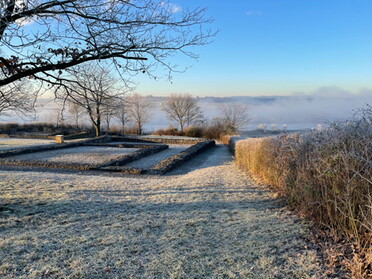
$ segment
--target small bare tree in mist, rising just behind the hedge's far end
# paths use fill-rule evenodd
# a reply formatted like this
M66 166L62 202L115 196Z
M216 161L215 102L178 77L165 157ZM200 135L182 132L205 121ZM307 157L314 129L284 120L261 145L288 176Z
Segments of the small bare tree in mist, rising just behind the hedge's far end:
M235 134L249 122L248 106L240 103L228 103L220 106L221 120L227 133Z

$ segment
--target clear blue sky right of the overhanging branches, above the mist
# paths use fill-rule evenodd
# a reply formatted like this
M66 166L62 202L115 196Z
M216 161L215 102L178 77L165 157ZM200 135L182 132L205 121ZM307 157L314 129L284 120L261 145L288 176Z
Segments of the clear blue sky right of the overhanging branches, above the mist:
M372 88L370 0L174 0L203 6L220 30L195 48L199 61L172 83L135 77L142 94L195 96L290 95L321 87L353 93ZM182 67L181 67L182 68Z

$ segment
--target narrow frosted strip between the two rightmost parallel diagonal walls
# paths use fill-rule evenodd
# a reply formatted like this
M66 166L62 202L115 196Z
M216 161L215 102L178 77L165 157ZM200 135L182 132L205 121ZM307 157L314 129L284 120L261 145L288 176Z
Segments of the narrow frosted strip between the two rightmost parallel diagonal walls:
M165 149L161 152L154 153L150 156L142 158L137 161L133 161L129 164L126 164L126 167L133 167L133 168L142 168L142 169L150 169L155 166L157 163L160 163L162 160L167 159L171 156L174 156L192 145L187 144L169 144L169 148Z

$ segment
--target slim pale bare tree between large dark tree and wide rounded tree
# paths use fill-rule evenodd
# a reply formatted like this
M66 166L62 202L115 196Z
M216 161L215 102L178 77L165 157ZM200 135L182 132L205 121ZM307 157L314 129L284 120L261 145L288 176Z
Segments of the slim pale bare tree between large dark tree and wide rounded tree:
M131 95L128 98L129 116L132 122L136 125L137 133L142 134L143 124L150 120L151 103L146 97L138 93Z

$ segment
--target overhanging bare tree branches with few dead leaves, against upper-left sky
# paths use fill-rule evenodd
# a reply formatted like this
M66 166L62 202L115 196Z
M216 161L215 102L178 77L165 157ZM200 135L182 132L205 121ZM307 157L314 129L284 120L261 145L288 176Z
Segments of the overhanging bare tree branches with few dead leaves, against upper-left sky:
M0 88L23 78L65 85L66 72L91 61L170 75L168 57L197 57L190 47L210 42L210 22L203 8L164 0L0 0Z

